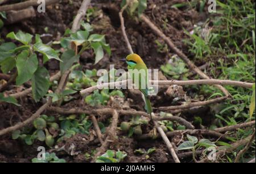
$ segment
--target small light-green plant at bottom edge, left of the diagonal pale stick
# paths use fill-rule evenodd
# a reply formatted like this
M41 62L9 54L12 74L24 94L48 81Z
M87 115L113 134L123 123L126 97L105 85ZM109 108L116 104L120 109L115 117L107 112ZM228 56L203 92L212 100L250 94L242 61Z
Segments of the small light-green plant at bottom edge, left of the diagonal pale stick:
M96 163L119 163L127 156L126 152L107 150L105 154L99 156Z

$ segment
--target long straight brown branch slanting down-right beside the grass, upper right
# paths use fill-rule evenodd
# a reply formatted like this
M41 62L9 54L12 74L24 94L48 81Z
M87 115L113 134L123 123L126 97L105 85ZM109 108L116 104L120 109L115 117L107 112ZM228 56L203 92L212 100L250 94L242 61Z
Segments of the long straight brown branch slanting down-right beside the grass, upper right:
M185 56L185 54L183 52L181 52L181 50L179 50L175 45L174 43L172 43L172 40L167 37L166 35L164 35L164 33L162 31L160 31L160 29L158 27L155 26L155 24L153 24L150 19L148 19L146 17L146 15L141 15L141 19L148 25L148 27L150 27L158 36L162 37L162 39L164 41L166 41L166 43L170 46L170 48L185 62L187 63L188 67L195 71L197 74L200 75L201 78L203 79L210 79L208 77L208 75L204 74L203 71L201 71L192 61L190 61L188 59L187 56ZM222 92L224 92L224 94L226 96L229 96L229 92L222 86L220 85L214 85L216 86L217 88L219 88Z

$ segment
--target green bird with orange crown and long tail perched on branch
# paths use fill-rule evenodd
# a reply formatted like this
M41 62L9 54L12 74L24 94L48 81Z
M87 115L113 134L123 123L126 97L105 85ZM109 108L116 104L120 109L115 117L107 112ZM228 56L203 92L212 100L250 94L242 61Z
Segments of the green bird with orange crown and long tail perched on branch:
M138 70L133 71L133 74L130 74L133 78L133 83L135 86L139 88L139 91L142 92L145 99L146 110L147 113L150 114L150 118L152 120L152 106L148 96L148 69L147 65L143 62L142 58L135 53L129 54L125 59L122 61L126 61L127 69L128 70ZM144 73L141 73L144 70ZM136 74L137 73L137 74Z

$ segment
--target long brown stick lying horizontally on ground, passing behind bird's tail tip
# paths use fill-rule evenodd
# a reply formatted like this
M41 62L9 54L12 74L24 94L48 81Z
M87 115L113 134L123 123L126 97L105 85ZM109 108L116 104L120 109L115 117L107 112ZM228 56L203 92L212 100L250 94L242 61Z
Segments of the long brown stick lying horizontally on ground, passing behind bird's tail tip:
M47 108L48 111L57 112L60 114L95 114L95 115L101 115L101 114L112 114L112 108L104 108L104 109L81 109L81 108L72 108L72 109L64 109L60 107L49 107ZM132 115L132 116L144 116L150 118L150 114L142 111L126 111L126 110L116 110L119 115ZM158 114L156 116L152 117L153 120L160 121L160 120L170 120L170 121L177 121L179 124L186 126L188 129L195 129L195 127L181 117L176 116L164 116L160 117Z

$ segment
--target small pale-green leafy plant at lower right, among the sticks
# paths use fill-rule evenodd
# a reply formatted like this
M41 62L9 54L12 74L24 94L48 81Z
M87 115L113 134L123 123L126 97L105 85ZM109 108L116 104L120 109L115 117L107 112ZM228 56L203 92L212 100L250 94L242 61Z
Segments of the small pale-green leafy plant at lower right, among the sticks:
M188 141L184 141L183 143L181 143L181 145L179 145L179 147L177 147L177 150L192 150L193 152L193 159L196 162L196 149L200 148L200 147L217 147L213 142L209 141L209 139L200 139L200 141L198 141L198 139L194 136L191 136L189 134L187 134L187 139Z

